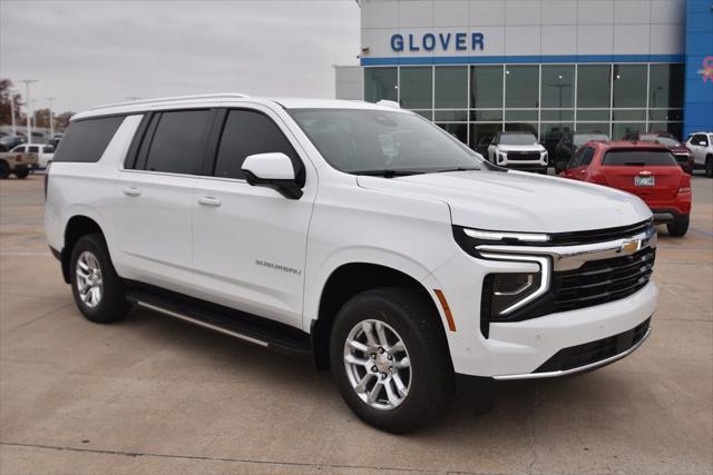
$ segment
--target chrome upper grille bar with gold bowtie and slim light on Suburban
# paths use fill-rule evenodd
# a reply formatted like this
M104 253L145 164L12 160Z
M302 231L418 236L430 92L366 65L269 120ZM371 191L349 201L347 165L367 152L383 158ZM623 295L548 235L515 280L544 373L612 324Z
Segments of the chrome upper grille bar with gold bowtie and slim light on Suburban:
M484 244L476 246L476 250L482 257L485 254L507 254L517 256L512 260L522 259L525 256L549 256L553 259L554 270L578 269L589 260L602 260L613 257L631 256L645 248L656 247L656 230L653 226L629 238L621 238L604 243L583 244L577 246L507 246Z

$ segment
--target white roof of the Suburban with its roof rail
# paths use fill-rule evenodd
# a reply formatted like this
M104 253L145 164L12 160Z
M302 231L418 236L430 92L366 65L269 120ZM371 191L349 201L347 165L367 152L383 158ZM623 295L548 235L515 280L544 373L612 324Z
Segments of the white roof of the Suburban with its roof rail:
M378 105L361 100L338 100L338 99L310 99L310 98L261 98L243 93L208 93L195 96L178 96L157 99L144 99L133 102L117 102L98 106L84 112L75 115L71 120L86 119L89 117L140 113L149 110L170 109L176 106L206 106L218 107L229 106L231 102L263 105L277 105L285 109L373 109L390 110L412 113L406 109L397 109L387 105Z

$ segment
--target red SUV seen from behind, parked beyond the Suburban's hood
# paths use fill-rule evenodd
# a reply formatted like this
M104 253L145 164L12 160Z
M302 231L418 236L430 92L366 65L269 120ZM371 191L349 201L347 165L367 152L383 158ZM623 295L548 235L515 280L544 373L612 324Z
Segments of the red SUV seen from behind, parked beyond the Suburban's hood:
M648 205L654 222L666 224L671 236L688 230L691 176L661 144L592 141L577 150L560 176L628 191Z

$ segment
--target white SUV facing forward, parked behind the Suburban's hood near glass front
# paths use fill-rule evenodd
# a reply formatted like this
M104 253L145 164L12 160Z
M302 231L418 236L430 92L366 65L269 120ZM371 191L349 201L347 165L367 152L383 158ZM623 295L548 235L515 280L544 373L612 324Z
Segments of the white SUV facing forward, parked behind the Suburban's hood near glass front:
M488 146L488 160L500 167L547 174L547 150L530 132L498 132Z

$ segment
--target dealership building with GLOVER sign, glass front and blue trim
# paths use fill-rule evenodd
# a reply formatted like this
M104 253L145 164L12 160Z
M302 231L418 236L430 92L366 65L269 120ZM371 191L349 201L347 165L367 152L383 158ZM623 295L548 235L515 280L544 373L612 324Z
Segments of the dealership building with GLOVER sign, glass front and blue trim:
M336 97L398 101L476 147L499 130L713 130L713 0L361 0Z

